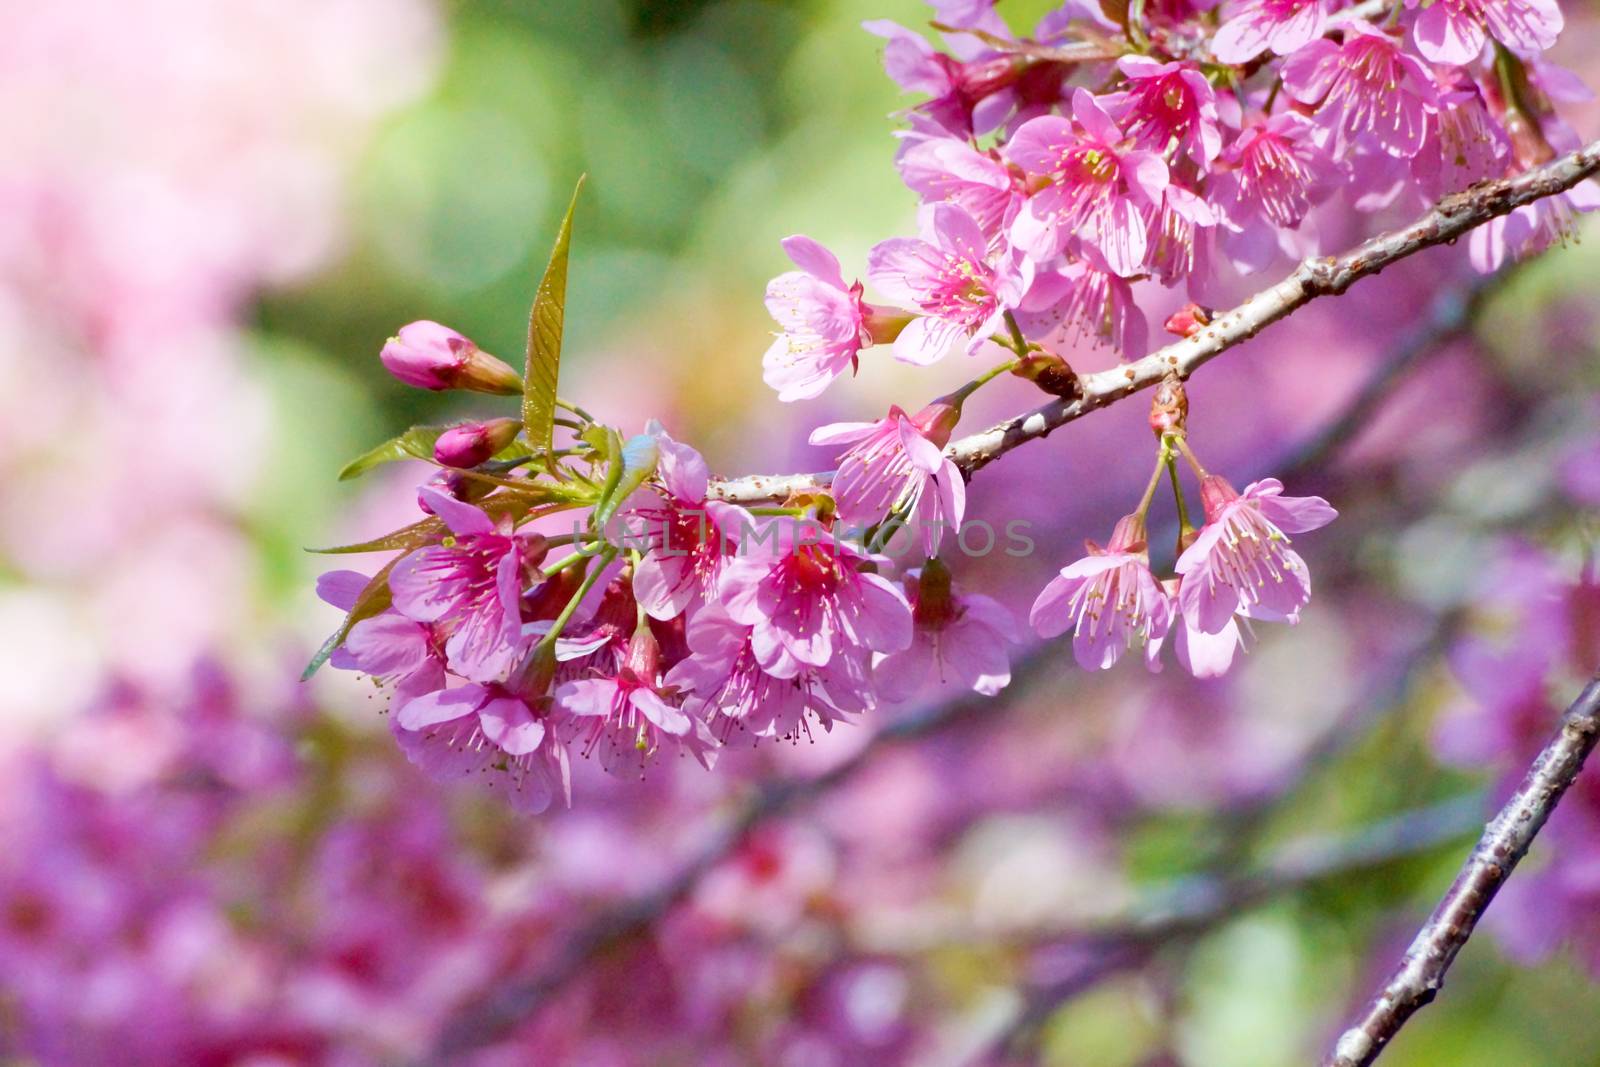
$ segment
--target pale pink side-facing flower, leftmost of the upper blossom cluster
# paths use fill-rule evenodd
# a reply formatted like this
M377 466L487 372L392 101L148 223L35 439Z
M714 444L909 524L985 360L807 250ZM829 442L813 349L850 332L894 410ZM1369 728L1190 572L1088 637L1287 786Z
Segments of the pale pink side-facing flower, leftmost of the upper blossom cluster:
M798 234L782 245L800 269L766 285L766 312L784 331L762 358L762 378L779 400L810 400L856 368L872 333L861 283L845 285L834 253Z

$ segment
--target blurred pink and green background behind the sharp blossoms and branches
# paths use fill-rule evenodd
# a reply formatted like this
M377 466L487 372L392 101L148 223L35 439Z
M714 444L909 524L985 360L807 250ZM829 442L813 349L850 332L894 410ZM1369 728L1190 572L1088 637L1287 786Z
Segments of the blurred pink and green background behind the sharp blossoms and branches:
M760 381L779 238L856 277L914 229L912 101L859 21L931 10L0 10L0 1062L1302 1064L1594 667L1595 243L1486 285L1437 250L1192 384L1208 466L1342 512L1301 545L1304 622L1229 678L1062 645L997 701L930 691L715 774L581 766L570 813L437 787L381 694L296 681L338 624L304 549L405 522L424 477L339 467L488 410L390 379L384 339L434 318L520 363L587 173L563 392L718 474L826 469L810 427L971 370L869 352L808 405ZM1594 78L1568 18L1554 54ZM1032 403L986 389L970 429ZM1149 459L1130 403L990 467L973 514L1037 552L958 581L1026 616ZM1552 859L1592 825L1541 838L1386 1062L1594 1062L1600 878Z

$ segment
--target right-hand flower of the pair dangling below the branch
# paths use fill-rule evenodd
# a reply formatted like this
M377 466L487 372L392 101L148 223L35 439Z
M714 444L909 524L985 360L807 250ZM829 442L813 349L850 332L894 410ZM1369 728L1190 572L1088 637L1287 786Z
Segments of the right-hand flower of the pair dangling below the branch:
M1338 512L1320 496L1283 496L1262 478L1238 493L1219 475L1200 485L1206 523L1178 557L1178 601L1202 633L1221 633L1235 614L1298 622L1310 601L1310 571L1285 534L1331 523Z

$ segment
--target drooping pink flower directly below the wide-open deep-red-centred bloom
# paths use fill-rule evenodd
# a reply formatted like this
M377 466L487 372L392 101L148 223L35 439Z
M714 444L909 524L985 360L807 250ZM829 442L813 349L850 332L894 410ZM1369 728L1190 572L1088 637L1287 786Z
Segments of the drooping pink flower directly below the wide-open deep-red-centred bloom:
M710 723L722 741L733 729L797 741L810 736L813 725L832 729L870 707L872 681L862 656L846 651L813 667L781 648L758 656L752 633L754 627L712 601L690 619L691 654L666 677L669 686L685 691L683 710Z

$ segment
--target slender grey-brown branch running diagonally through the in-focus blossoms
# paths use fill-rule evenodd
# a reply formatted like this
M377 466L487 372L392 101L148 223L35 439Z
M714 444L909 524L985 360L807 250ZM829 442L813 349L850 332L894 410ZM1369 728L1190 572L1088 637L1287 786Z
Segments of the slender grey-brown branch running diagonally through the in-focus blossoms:
M1254 338L1266 326L1318 296L1338 296L1360 278L1378 274L1406 256L1434 245L1446 245L1490 219L1566 192L1597 171L1600 171L1600 141L1525 174L1478 182L1464 192L1451 194L1403 229L1379 234L1342 256L1304 261L1290 277L1218 315L1210 326L1192 338L1125 366L1078 376L1080 394L1075 398L1053 400L987 430L950 442L944 454L971 477L1013 448L1048 437L1056 427L1149 389L1168 374L1189 378L1222 352ZM754 504L826 486L832 474L746 475L712 483L712 493L725 501Z

